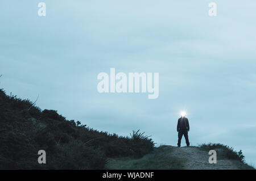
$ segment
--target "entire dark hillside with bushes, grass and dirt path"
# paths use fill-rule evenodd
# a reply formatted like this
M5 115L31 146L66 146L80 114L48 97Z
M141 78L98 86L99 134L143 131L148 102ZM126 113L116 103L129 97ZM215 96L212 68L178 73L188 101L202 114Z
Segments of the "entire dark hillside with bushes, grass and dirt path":
M150 137L99 132L0 90L0 169L252 169L221 144L154 147ZM217 164L208 151L217 150ZM38 163L45 150L47 163Z

